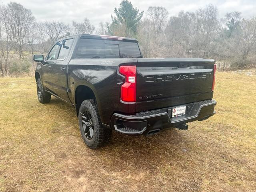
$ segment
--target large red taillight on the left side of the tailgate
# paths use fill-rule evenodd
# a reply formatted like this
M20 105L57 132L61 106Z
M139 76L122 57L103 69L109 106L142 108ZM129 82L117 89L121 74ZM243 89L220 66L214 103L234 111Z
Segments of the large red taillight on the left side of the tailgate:
M121 100L136 102L136 66L120 66L119 73L125 77L121 86Z

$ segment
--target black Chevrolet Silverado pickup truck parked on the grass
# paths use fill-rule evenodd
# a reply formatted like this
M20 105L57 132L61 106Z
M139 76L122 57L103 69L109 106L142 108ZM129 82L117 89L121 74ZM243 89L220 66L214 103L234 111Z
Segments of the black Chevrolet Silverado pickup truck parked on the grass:
M134 38L80 34L58 40L34 61L39 102L53 95L74 106L90 148L108 142L112 130L186 130L186 123L215 114L212 59L143 58Z

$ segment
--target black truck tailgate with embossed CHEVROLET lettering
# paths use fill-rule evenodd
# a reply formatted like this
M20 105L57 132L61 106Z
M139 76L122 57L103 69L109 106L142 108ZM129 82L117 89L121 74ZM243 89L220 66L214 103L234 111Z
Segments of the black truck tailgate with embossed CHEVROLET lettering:
M214 60L138 58L136 112L212 98Z

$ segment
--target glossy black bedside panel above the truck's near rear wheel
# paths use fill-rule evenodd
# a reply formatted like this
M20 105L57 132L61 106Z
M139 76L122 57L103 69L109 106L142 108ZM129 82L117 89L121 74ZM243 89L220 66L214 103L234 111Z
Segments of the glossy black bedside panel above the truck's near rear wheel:
M72 59L68 64L69 98L75 104L76 88L85 85L96 97L102 123L110 125L114 112L129 112L130 105L120 102L120 64L136 63L136 59ZM135 104L134 104L135 111Z

